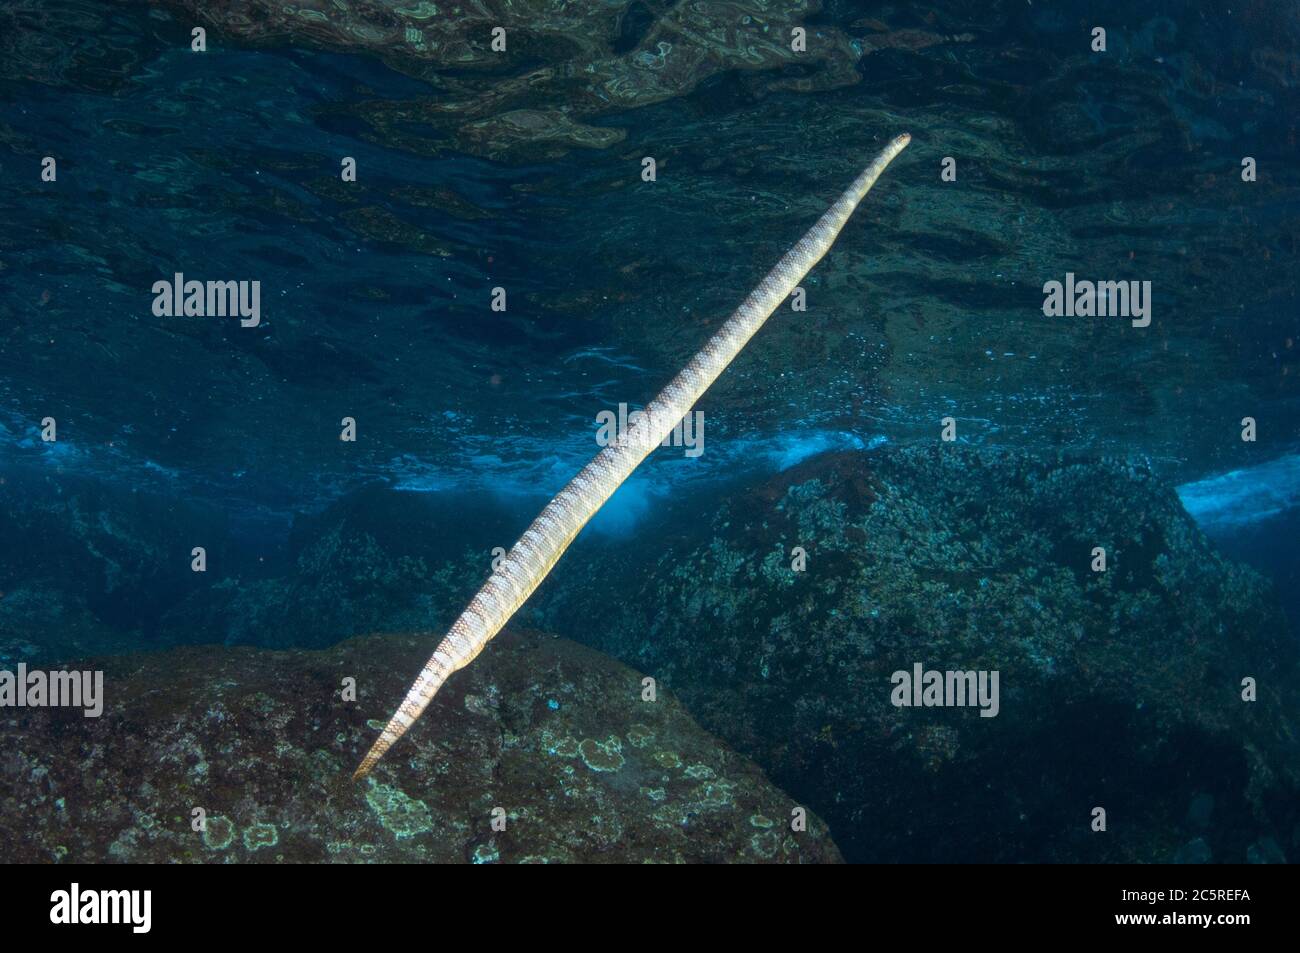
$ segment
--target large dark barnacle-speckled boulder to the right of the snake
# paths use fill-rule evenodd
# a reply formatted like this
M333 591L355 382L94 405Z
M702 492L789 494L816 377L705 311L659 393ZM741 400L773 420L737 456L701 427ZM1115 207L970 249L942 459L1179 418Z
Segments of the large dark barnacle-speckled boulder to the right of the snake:
M885 447L696 503L640 562L577 547L529 618L660 679L849 859L1242 858L1295 824L1296 642L1150 472ZM896 707L915 664L998 672L998 714Z

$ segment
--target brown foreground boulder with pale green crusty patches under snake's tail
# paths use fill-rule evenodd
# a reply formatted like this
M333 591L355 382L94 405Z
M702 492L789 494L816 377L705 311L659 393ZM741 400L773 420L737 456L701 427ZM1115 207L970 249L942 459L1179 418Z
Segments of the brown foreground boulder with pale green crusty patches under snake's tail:
M105 711L0 712L6 862L836 862L826 826L641 676L504 633L364 784L430 638L103 663ZM77 666L83 668L84 666ZM341 698L356 679L360 702ZM369 719L369 722L368 722ZM195 809L205 824L192 828ZM498 810L499 809L499 810ZM494 819L497 820L494 826ZM502 820L503 829L502 829Z

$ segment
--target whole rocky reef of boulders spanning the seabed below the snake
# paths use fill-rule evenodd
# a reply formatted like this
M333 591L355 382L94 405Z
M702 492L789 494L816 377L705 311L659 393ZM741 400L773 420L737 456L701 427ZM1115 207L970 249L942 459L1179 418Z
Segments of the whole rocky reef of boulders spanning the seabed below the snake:
M268 545L278 555L266 563L203 530L217 554L209 572L185 572L168 590L147 556L177 551L183 567L182 542L205 525L200 511L172 510L168 524L142 519L161 512L144 501L74 485L47 495L29 494L38 502L5 514L27 527L26 538L44 541L32 556L5 564L6 663L196 642L257 650L122 658L108 663L120 705L101 724L30 712L21 731L10 722L10 748L22 754L10 755L20 759L6 768L0 813L18 831L43 816L32 803L39 794L90 810L96 829L116 831L86 845L88 855L108 855L130 829L126 814L144 811L169 833L147 848L134 835L133 846L120 848L125 855L191 850L203 858L183 837L187 828L169 827L185 816L181 806L161 809L190 798L240 837L250 824L298 831L289 853L278 852L286 857L313 857L325 842L369 844L377 858L442 857L441 841L382 846L372 801L400 800L399 790L439 826L448 818L481 831L493 796L507 811L558 810L549 796L510 793L515 781L529 790L582 783L581 810L607 818L632 810L619 800L630 793L630 805L650 813L676 810L672 798L722 797L705 787L716 780L706 768L731 784L751 776L748 762L729 762L746 764L742 771L685 740L663 741L675 733L716 745L688 727L676 702L640 702L634 673L564 641L511 636L448 684L411 746L403 741L404 753L394 751L376 775L384 793L363 803L335 780L482 581L491 546L517 536L530 514L372 486L299 517L282 545ZM887 445L823 454L775 475L736 475L662 503L627 538L584 537L517 624L564 633L654 676L703 729L826 818L850 859L1295 859L1300 748L1288 686L1300 679L1296 641L1270 585L1226 559L1145 467ZM114 527L130 532L113 534ZM1106 551L1105 571L1093 568L1096 547ZM69 554L62 562L61 551ZM152 608L140 612L139 598L105 599L113 592L152 592ZM150 633L124 624L138 616L153 618ZM303 651L356 632L430 628L419 638ZM915 664L998 672L998 714L896 707L890 677ZM344 676L358 679L360 705L339 699ZM1243 699L1243 679L1254 680L1256 701ZM156 718L140 714L155 707ZM654 712L680 719L658 723ZM114 724L129 724L124 735L138 735L140 746L105 727ZM638 746L645 729L659 741ZM113 738L126 748L114 749ZM266 755L285 745L286 758ZM109 758L95 771L121 787L91 797L69 780L68 766L84 751ZM143 788L114 774L118 762L142 759L164 766L138 774ZM593 767L616 762L619 771ZM231 774L216 788L199 785L218 763ZM309 779L302 801L291 790L299 775ZM47 776L57 787L40 780ZM510 784L494 788L493 779ZM34 789L36 781L46 787ZM212 790L220 797L204 796ZM670 801L654 801L660 796ZM777 811L772 797L755 794L762 806L744 810L784 820L789 807ZM318 807L313 814L304 803ZM1089 828L1095 807L1106 811L1105 833ZM51 813L49 823L61 816ZM628 829L649 823L644 814L619 816ZM566 818L555 823L563 828ZM83 820L69 822L73 833L49 828L23 842L72 850ZM494 842L502 850L508 841ZM737 841L725 842L712 857ZM582 844L550 855L599 854L597 841ZM529 841L502 855L547 850ZM257 852L257 859L274 855Z

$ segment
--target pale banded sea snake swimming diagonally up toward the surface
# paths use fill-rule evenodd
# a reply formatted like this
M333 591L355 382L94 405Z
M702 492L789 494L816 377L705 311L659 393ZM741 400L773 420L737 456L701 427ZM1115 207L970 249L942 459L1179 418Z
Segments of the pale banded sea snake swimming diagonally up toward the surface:
M659 397L650 402L641 419L615 442L601 450L595 459L546 504L434 649L402 705L393 712L393 718L358 766L354 779L365 777L370 772L393 742L420 718L433 701L433 696L442 688L442 683L452 672L473 662L491 637L510 621L515 611L546 579L551 567L559 562L586 521L686 416L701 395L708 390L708 385L718 380L812 265L831 251L853 209L909 142L911 137L904 133L885 146L844 195L818 218L816 225L800 239L798 244L785 252L759 286L750 291L749 298L736 308L736 313L708 339L703 350L690 359Z

